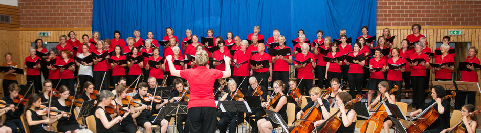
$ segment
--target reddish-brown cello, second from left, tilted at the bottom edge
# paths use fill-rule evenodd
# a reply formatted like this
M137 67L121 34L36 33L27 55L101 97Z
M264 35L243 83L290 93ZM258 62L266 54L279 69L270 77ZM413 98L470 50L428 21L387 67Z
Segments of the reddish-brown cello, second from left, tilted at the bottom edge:
M362 98L361 95L356 95L356 99L353 99L353 100L347 102L344 105L344 107L361 101L361 98ZM341 112L341 110L337 110L337 112L332 114L331 117L327 118L326 121L324 121L324 123L322 123L320 126L316 127L315 131L313 131L313 132L318 132L318 133L336 132L337 129L339 129L339 127L341 126L341 123L342 123L342 120L339 117L337 117L337 114L339 114L339 112Z

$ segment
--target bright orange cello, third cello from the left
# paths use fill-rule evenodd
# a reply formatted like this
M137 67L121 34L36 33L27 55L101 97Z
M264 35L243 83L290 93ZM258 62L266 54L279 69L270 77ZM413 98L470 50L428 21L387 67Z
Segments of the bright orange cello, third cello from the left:
M391 89L389 92L389 95L393 94L398 90L398 85L394 85L394 88ZM381 94L382 95L382 94ZM386 112L386 107L382 106L382 102L384 102L387 99L387 97L383 98L382 101L379 101L378 104L376 104L376 108L373 109L371 117L367 119L361 126L361 132L366 132L367 130L367 125L369 125L369 122L374 122L374 132L381 132L383 126L384 119L387 118L387 112Z

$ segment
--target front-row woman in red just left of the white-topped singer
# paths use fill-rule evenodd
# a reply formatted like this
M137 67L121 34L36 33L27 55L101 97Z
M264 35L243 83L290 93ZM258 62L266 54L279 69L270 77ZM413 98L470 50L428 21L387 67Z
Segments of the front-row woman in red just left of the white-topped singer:
M65 68L59 68L59 71L60 71L60 78L62 79L62 81L60 82L60 85L64 85L64 86L68 86L69 87L69 90L70 90L70 95L75 95L75 89L74 89L74 84L75 84L75 80L74 80L74 71L75 71L75 66L74 66L74 60L72 58L70 58L70 52L67 51L67 50L62 50L60 51L60 54L61 54L61 57L62 59L60 60L57 60L57 62L55 62L55 65L67 65L69 63L72 63L72 65L70 66L65 66L67 67L67 69Z

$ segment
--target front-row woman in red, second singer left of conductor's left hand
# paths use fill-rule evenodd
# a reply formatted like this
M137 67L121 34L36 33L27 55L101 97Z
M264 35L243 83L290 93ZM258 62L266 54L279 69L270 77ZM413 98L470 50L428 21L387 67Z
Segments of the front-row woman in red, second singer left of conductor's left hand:
M132 49L130 49L130 51L132 51L132 55L127 55L127 56L130 56L132 58L135 58L137 56L142 56L139 53L138 47L132 47ZM135 82L135 79L137 79L137 77L142 75L142 70L140 68L143 68L144 62L143 61L137 62L137 61L127 60L127 65L128 65L128 69L129 69L128 74L127 74L127 84L132 84L133 82ZM142 81L142 76L140 76L139 81Z

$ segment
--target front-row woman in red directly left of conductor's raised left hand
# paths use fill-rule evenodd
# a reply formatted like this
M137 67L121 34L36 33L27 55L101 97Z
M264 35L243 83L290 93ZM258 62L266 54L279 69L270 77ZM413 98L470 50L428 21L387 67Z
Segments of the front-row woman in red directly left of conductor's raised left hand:
M154 54L152 57L148 59L148 61L160 61L162 59L159 56L160 50L159 48L154 48ZM155 77L158 83L162 83L162 79L164 79L164 64L161 63L160 65L150 66L148 63L145 64L145 70L150 70L150 77Z

